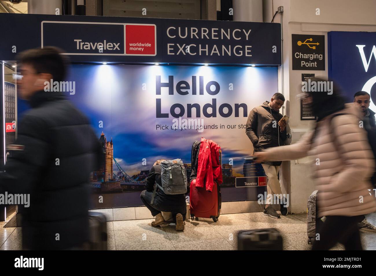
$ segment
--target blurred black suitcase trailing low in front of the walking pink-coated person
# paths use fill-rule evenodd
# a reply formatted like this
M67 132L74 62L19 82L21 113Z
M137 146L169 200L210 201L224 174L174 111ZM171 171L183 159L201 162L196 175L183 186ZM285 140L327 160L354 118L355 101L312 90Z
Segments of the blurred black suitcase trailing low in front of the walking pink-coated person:
M282 236L275 228L241 230L238 250L282 250Z

